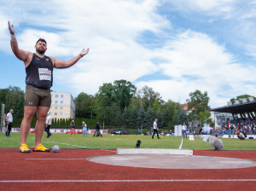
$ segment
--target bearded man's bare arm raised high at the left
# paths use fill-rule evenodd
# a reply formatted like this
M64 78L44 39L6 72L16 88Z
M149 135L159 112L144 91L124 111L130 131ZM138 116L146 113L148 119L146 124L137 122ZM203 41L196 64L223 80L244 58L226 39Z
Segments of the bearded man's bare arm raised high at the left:
M11 35L10 44L11 44L11 48L12 48L14 54L16 55L16 57L18 59L20 59L20 61L26 61L30 52L25 51L23 49L19 49L18 42L15 37L14 25L10 25L10 23L8 21L8 27L9 27L9 33Z

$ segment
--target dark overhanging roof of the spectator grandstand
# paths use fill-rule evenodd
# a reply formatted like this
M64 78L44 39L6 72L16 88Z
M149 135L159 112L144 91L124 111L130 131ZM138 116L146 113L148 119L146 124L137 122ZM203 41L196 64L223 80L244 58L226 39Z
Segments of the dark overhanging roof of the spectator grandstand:
M210 109L211 112L221 112L221 113L248 113L256 112L256 101L251 101L247 103L241 103L231 106L224 106Z

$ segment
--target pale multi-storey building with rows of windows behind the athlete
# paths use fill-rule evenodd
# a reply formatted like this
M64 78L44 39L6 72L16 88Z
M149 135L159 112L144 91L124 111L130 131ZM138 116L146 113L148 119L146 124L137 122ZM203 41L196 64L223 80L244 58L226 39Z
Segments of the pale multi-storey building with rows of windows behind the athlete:
M75 103L69 92L50 92L51 105L49 113L51 119L73 119L75 117Z

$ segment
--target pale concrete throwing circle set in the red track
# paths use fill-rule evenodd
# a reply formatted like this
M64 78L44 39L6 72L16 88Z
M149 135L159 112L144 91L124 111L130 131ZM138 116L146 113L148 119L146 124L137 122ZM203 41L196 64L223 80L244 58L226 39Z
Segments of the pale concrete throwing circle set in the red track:
M237 169L256 166L248 159L169 154L113 154L90 157L88 160L105 164L156 169Z

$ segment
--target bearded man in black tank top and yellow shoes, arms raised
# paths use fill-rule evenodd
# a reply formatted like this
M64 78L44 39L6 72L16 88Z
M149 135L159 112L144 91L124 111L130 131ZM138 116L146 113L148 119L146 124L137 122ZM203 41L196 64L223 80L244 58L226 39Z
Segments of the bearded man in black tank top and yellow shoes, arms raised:
M51 96L50 87L53 84L53 68L72 67L89 49L83 49L79 55L76 55L69 61L61 61L55 57L44 55L47 50L47 43L43 38L39 38L35 49L32 53L23 49L19 49L14 25L9 26L11 35L10 44L15 56L24 61L26 68L26 92L24 99L24 118L20 125L20 153L30 153L30 149L26 145L26 138L31 127L31 121L37 112L35 144L32 151L49 152L49 148L45 148L41 144L44 132L44 122L49 111Z

